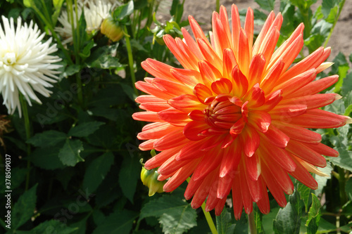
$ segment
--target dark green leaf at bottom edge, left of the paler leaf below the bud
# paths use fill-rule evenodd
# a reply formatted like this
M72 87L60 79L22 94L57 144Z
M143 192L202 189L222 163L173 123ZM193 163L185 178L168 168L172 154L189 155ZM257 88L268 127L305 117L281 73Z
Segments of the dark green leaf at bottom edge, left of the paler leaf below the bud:
M129 210L113 212L101 225L97 226L93 234L129 234L134 219L138 214Z

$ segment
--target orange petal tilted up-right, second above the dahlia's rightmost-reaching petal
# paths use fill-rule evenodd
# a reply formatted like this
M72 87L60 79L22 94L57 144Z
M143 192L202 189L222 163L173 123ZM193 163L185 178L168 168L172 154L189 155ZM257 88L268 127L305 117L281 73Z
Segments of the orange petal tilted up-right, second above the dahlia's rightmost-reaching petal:
M315 93L319 93L324 89L327 89L332 84L335 84L339 80L339 76L337 74L331 77L324 77L322 79L318 79L317 81L310 82L306 86L303 86L301 89L298 89L296 92L287 95L287 98L299 97L299 96L308 96Z

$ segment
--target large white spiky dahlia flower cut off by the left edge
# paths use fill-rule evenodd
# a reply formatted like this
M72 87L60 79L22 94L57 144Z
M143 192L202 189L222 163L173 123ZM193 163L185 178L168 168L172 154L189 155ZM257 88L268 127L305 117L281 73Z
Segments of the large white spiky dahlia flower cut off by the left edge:
M21 25L21 18L17 26L13 18L2 16L4 25L0 25L0 93L9 114L15 109L21 115L19 92L23 94L29 105L31 100L42 103L34 91L49 97L46 88L52 87L57 82L56 71L61 65L53 64L61 60L58 56L51 56L57 51L56 44L42 41L45 33L41 34L38 26L32 21Z

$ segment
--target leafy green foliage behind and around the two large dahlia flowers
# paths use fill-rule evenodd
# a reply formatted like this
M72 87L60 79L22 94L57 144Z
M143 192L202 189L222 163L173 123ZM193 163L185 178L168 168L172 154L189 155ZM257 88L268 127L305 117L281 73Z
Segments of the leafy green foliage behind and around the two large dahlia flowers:
M142 164L151 157L138 149L142 129L132 120L139 110L134 98L141 94L134 82L148 77L141 63L153 58L174 67L163 43L164 34L182 37L185 0L6 0L1 15L34 20L46 39L53 37L56 56L62 58L59 81L42 105L29 106L28 122L18 111L5 116L0 106L1 165L11 155L11 229L5 228L5 209L0 209L2 232L7 233L209 233L201 210L184 200L186 184L171 194L156 193L141 181ZM214 9L219 1L214 1ZM256 0L256 23L279 6L284 22L279 44L304 22L306 52L326 46L345 0ZM220 2L221 3L221 2ZM166 14L168 6L169 14ZM244 11L241 11L244 17ZM158 18L163 15L163 18ZM347 30L347 29L346 29ZM339 53L329 74L339 82L325 92L339 93L325 110L351 116L352 55ZM1 79L1 76L0 76ZM26 134L27 130L27 134ZM323 143L339 151L322 169L330 177L315 176L318 190L295 183L289 204L280 208L272 201L271 212L255 207L258 233L348 233L352 222L351 127L318 131ZM5 188L1 167L0 188ZM144 169L145 170L145 169ZM150 173L144 171L144 177ZM154 176L154 171L152 171ZM142 176L143 177L143 176ZM2 179L4 178L4 179ZM150 178L151 179L151 178ZM143 178L142 178L143 180ZM144 182L145 183L145 182ZM154 184L155 185L155 184ZM156 188L155 191L159 192ZM4 189L0 190L5 204ZM229 202L231 204L231 202ZM211 213L211 212L210 212ZM246 215L234 220L227 204L214 216L218 233L248 233Z

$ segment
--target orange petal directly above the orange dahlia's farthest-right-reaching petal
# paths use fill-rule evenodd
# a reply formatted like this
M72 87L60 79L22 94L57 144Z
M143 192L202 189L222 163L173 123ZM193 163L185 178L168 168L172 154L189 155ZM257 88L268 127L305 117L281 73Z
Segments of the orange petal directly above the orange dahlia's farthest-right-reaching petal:
M335 100L339 100L342 97L337 93L319 93L310 96L301 96L298 98L286 98L281 101L280 105L289 103L295 103L300 105L306 105L307 110L321 108L325 105L333 103Z

